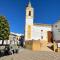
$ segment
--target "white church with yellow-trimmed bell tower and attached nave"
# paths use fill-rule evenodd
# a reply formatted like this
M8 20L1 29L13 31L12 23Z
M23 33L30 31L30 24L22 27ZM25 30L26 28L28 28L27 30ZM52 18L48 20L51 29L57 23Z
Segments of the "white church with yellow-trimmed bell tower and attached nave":
M50 39L52 25L49 24L36 24L34 21L34 8L29 2L26 7L26 20L25 20L25 41L40 40L47 41ZM50 34L49 34L50 33Z

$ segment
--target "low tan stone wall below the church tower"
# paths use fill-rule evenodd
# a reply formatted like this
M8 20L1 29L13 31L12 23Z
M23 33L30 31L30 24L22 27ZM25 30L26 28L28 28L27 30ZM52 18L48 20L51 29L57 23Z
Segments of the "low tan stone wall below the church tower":
M31 49L32 51L40 51L41 47L47 46L47 41L41 40L29 40L25 41L25 47Z

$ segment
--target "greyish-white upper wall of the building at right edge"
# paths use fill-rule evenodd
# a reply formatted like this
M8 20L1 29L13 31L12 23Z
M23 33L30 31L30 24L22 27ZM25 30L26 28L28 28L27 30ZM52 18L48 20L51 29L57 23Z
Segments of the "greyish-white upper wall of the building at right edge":
M55 27L57 25L57 27ZM60 21L53 24L53 39L60 40Z

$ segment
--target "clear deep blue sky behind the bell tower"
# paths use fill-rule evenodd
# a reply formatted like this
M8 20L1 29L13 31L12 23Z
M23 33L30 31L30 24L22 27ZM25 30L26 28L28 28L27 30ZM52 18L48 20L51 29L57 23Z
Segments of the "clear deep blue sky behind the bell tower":
M60 19L60 0L30 0L34 23L53 24ZM10 31L24 33L25 9L28 0L0 0L0 16L6 16Z

